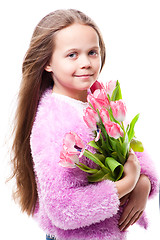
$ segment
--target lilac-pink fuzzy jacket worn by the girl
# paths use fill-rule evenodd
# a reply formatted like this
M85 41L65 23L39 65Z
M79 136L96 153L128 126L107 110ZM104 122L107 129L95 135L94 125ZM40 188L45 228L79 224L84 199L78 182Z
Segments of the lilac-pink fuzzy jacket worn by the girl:
M65 133L74 131L85 143L92 139L82 117L85 107L87 103L51 90L40 101L30 139L38 189L34 218L57 240L124 240L126 232L118 228L123 208L115 183L106 180L89 184L87 173L59 165ZM142 174L151 181L153 196L158 183L151 160L145 152L137 153L137 157ZM85 157L83 162L93 164ZM146 228L144 214L139 224Z

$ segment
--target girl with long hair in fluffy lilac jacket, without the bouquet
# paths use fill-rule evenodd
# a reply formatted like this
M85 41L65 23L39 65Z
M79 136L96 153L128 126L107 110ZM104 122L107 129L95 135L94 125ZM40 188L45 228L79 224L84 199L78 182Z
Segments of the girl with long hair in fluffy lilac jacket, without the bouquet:
M23 62L13 144L16 197L47 239L121 240L138 219L147 226L142 213L158 183L145 152L130 153L117 182L90 184L79 168L59 164L66 133L92 140L83 110L104 62L98 27L76 10L44 17ZM81 161L92 166L85 157Z

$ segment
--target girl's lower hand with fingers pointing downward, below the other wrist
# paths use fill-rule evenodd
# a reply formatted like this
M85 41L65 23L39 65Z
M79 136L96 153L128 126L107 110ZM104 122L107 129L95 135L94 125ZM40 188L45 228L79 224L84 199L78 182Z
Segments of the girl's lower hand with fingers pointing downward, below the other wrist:
M140 218L145 209L150 189L151 184L148 177L141 175L133 191L120 200L121 205L128 200L127 206L119 220L121 231L125 231Z

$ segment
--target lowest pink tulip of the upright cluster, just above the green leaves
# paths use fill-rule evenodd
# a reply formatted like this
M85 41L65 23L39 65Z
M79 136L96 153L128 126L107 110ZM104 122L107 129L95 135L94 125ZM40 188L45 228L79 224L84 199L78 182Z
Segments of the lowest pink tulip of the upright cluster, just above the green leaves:
M108 121L104 123L104 126L110 137L113 137L115 139L123 137L123 131L117 123Z

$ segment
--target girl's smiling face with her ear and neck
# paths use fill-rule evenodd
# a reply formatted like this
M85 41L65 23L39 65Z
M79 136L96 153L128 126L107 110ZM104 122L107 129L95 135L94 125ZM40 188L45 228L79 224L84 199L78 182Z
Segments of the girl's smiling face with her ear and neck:
M52 72L54 92L86 101L87 89L97 80L100 68L99 37L92 27L76 23L57 32L45 67Z

